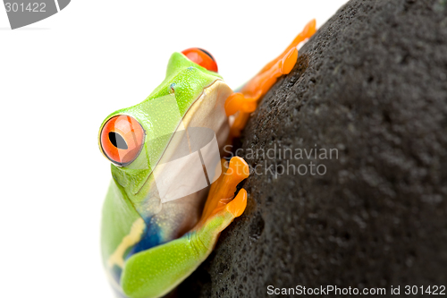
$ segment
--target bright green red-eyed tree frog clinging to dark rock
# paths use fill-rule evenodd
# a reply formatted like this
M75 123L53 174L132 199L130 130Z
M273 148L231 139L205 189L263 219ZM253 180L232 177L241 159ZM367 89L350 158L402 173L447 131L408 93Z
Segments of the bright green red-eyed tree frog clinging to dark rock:
M175 52L148 98L105 117L98 145L111 163L112 181L102 210L101 254L117 297L173 292L242 215L248 192L237 190L249 166L243 158L225 158L223 147L240 136L260 99L291 72L299 43L315 32L312 20L236 90L206 50Z

